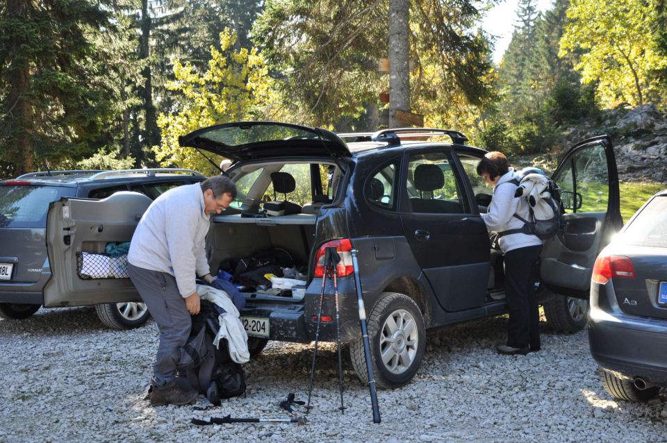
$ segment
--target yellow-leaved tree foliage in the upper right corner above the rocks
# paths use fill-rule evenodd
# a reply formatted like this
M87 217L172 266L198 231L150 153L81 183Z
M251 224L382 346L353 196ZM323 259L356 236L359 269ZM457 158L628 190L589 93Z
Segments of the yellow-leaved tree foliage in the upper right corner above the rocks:
M604 105L667 99L654 78L667 67L667 57L659 53L651 37L657 21L656 3L573 0L568 8L571 22L561 38L559 54L580 51L576 68L584 83L598 82Z

